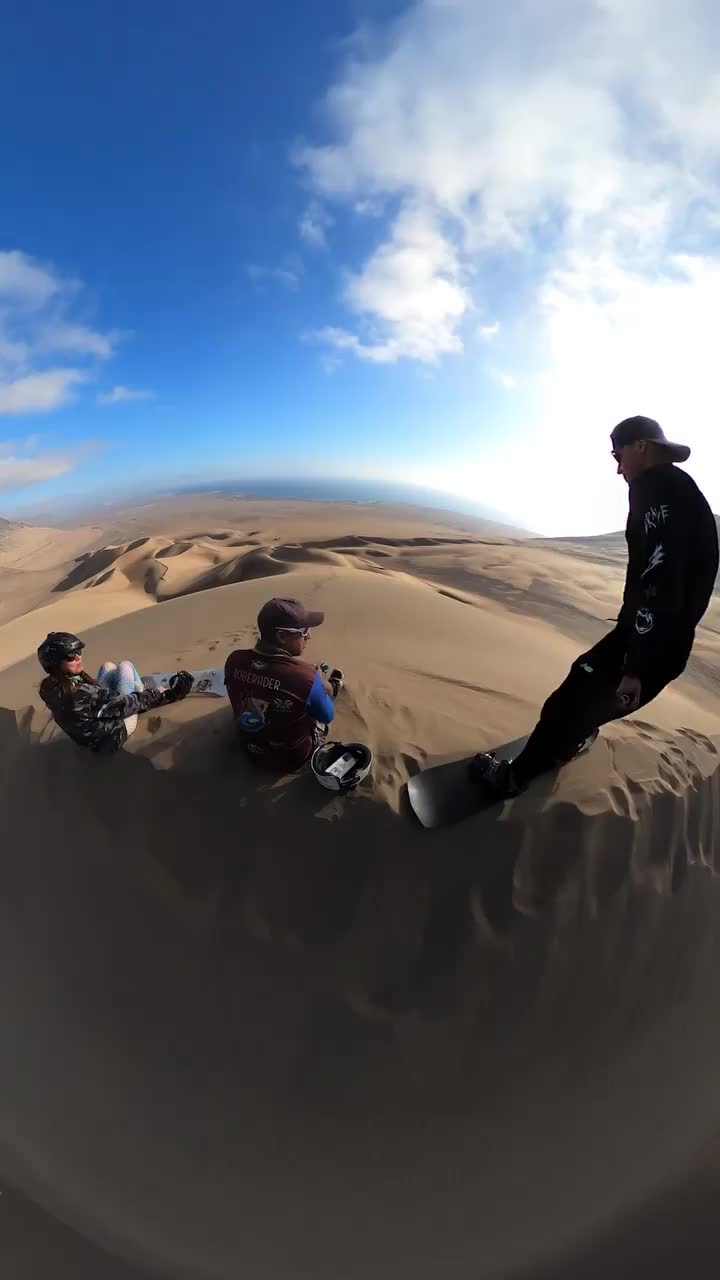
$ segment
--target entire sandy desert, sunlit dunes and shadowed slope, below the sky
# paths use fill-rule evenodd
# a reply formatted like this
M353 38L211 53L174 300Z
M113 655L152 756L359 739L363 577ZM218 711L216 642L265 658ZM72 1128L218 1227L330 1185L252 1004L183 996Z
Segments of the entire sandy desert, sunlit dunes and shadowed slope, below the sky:
M623 1215L657 1240L720 1123L717 591L682 680L560 774L437 832L405 791L529 731L624 567L621 534L383 503L0 521L9 1187L170 1275L546 1280L600 1276ZM325 611L333 735L374 754L347 797L252 771L217 699L110 760L38 699L49 630L88 669L222 667L275 594Z

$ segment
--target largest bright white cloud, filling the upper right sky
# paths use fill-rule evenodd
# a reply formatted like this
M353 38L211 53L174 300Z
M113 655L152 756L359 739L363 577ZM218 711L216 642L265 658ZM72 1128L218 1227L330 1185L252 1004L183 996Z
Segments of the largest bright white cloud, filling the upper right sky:
M548 509L600 527L620 513L612 476L584 498L562 481L556 442L600 461L632 412L692 436L720 506L719 46L705 0L421 0L352 42L325 141L296 154L325 205L384 210L375 247L348 264L348 323L319 330L336 349L457 352L473 305L487 312L500 291L502 356L527 398L496 468L478 462L480 495L503 484L544 525ZM395 264L413 216L433 234L407 289Z

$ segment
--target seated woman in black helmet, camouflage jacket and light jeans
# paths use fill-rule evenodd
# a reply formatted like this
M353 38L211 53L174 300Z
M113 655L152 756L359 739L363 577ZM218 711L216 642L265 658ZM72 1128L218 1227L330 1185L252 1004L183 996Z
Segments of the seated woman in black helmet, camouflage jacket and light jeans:
M143 689L132 662L106 662L97 680L82 666L85 644L69 631L51 631L37 650L47 673L40 696L55 723L78 746L101 755L119 751L128 739L126 721L164 703L177 703L192 689L192 676L178 671L169 689ZM135 727L135 726L132 726Z

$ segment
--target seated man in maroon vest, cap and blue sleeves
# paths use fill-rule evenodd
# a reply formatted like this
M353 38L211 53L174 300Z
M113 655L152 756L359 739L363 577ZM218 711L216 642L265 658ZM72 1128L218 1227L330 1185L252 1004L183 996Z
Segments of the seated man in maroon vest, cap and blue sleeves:
M342 689L342 672L324 680L302 660L310 628L324 613L300 600L273 599L258 614L254 649L236 649L225 663L225 689L249 755L269 769L299 769L323 741Z

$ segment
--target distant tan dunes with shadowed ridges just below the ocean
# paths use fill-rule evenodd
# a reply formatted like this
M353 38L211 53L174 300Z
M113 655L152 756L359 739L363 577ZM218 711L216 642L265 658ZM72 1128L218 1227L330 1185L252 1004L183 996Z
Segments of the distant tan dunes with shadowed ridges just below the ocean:
M506 535L502 526L448 512L382 503L258 503L211 494L99 508L94 515L99 524L83 529L0 526L0 625L51 603L55 593L129 589L163 600L283 573L287 563L299 561L340 563L336 552L375 556L380 547L454 545Z

